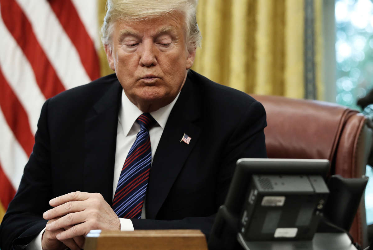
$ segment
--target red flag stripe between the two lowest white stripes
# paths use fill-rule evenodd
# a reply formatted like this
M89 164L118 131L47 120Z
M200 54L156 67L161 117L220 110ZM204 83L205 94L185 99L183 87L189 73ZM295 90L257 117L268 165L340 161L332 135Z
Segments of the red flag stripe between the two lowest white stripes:
M27 155L32 152L34 136L32 135L27 113L17 96L10 88L0 68L0 109L10 129ZM0 182L2 183L2 182Z

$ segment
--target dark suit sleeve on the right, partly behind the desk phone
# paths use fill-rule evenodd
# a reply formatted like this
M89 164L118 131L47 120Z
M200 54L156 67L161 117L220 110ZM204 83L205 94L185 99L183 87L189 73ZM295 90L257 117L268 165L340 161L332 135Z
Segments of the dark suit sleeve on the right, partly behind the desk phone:
M232 130L228 143L222 149L218 176L216 178L216 211L209 217L186 217L180 220L141 220L131 219L134 229L200 229L209 238L217 209L225 201L239 158L266 158L264 127L266 127L266 112L259 102L248 105Z

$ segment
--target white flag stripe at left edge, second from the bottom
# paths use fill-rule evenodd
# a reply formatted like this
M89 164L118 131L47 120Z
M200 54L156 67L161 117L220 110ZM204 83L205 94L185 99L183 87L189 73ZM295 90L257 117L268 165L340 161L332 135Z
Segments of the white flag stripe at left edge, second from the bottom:
M45 101L31 65L6 28L0 13L0 66L5 79L25 109L31 132L35 134L41 107ZM1 138L1 137L0 137ZM4 142L1 142L4 144Z

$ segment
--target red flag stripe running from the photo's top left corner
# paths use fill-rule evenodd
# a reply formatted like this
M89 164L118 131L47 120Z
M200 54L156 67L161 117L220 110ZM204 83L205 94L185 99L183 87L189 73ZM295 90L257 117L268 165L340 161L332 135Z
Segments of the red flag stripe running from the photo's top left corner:
M48 99L65 90L18 3L15 0L0 0L0 5L4 24L30 62L36 81L45 98Z

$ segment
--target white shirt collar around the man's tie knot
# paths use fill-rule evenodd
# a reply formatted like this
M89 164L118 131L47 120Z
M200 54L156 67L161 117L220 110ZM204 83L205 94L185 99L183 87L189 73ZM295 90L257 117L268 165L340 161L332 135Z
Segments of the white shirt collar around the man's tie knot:
M176 98L168 105L150 112L151 116L157 121L160 127L164 129L166 126L167 119L170 115L170 112L175 105L175 102L178 100L180 92L176 96ZM119 122L122 124L123 133L125 136L128 135L129 131L131 130L132 126L134 125L136 119L142 114L142 111L136 107L131 101L129 101L128 97L122 90L122 106L120 107L119 111Z

